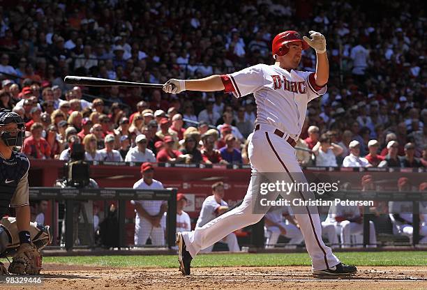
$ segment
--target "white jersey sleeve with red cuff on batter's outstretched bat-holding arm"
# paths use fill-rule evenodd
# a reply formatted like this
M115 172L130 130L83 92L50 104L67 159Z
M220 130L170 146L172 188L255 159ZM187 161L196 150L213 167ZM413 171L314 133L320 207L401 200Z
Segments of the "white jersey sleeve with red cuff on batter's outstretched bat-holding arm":
M225 92L233 93L236 98L259 91L265 82L264 69L261 65L250 66L236 73L221 75Z

